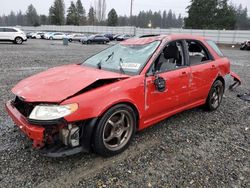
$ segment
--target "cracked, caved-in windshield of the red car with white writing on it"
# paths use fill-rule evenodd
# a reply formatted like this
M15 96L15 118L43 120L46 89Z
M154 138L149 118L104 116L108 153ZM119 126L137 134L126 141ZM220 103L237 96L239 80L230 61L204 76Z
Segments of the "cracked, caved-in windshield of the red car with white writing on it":
M82 65L122 74L139 74L160 41L144 45L116 44L90 57Z

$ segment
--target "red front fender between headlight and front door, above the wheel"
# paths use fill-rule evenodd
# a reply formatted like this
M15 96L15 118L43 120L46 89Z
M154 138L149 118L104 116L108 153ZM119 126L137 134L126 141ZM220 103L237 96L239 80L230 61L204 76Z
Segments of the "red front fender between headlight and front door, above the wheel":
M68 122L74 122L99 117L119 103L133 104L140 116L144 110L144 98L144 77L135 76L93 89L70 98L62 104L79 105L75 113L65 117Z

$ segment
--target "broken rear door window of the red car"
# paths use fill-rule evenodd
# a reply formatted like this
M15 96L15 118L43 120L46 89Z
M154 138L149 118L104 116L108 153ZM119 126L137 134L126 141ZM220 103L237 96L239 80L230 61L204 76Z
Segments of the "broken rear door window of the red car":
M207 49L199 42L188 40L187 46L190 65L197 65L210 60Z

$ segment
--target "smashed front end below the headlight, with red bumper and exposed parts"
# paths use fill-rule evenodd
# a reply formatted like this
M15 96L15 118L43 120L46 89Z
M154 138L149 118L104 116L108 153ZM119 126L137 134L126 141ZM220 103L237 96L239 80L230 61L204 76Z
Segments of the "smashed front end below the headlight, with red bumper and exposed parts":
M45 156L63 157L90 150L90 138L96 119L67 122L64 118L53 120L31 119L38 103L16 97L6 103L8 114L15 124L33 142L33 148Z

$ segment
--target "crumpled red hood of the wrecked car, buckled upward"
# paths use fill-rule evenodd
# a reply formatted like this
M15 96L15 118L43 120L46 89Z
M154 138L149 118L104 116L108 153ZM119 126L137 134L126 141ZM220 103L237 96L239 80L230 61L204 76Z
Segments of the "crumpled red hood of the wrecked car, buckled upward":
M61 102L98 80L129 76L81 65L49 69L20 81L12 92L27 102Z

